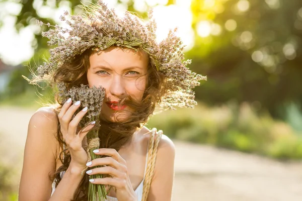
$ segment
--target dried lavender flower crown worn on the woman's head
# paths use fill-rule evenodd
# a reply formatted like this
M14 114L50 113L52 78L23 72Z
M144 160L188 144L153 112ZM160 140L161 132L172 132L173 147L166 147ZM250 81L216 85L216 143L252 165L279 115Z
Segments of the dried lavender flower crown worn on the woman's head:
M39 77L51 75L89 48L101 51L115 45L135 51L142 49L148 54L151 64L166 77L169 89L163 94L159 106L167 110L175 109L175 106L193 108L197 104L192 88L199 85L200 80L206 80L206 76L191 72L186 67L191 60L183 61L185 45L175 35L177 29L170 30L167 38L157 43L157 25L152 10L148 12L149 22L145 23L127 11L123 17L118 17L115 10L108 9L102 1L80 7L84 14L70 16L70 21L65 19L68 12L60 17L70 28L55 25L54 29L42 32L42 36L49 39L49 46L57 46L49 50L48 61L38 67ZM37 23L43 25L41 21L37 20ZM49 23L46 25L50 26Z

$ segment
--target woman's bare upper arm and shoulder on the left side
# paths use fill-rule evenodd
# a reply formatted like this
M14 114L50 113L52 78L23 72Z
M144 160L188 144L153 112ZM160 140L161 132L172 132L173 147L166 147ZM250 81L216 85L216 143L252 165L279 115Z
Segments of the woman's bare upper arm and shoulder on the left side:
M40 108L31 117L24 149L19 200L48 200L56 166L57 120L52 108Z

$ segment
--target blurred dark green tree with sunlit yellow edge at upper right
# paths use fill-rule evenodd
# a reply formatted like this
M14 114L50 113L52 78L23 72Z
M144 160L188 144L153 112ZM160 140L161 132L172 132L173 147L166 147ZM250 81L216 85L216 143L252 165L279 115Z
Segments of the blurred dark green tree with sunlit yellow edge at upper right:
M191 68L208 76L197 98L249 101L285 115L302 104L302 1L192 0Z

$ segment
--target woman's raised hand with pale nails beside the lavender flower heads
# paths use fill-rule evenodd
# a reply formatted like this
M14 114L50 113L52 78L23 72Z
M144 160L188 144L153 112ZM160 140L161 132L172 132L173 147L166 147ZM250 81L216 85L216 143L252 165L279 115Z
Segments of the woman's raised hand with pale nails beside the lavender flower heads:
M82 142L86 134L94 127L95 122L88 124L78 134L76 133L81 119L87 113L87 108L85 108L71 120L72 115L77 111L80 105L80 101L71 105L71 98L69 98L62 106L62 109L58 114L58 119L60 122L60 131L71 156L69 166L83 170L86 168L88 156L82 146Z

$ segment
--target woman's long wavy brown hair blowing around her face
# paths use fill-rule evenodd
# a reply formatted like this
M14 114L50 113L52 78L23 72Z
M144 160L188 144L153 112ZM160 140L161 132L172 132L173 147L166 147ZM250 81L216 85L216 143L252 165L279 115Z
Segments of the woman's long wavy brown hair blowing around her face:
M139 47L137 47L137 49L139 49ZM67 89L72 86L80 86L80 84L88 84L87 70L90 67L89 58L94 52L95 51L92 49L88 49L82 55L76 57L72 62L66 63L65 65L62 65L62 67L56 69L53 74L53 81L55 83L60 81L67 83ZM160 103L161 94L164 92L162 85L162 83L165 82L164 80L165 76L156 70L155 65L149 59L146 89L143 93L142 100L137 102L130 96L123 99L124 103L129 107L134 108L135 111L123 122L108 122L100 118L100 148L114 148L118 151L121 146L131 139L137 128L143 126L147 122L149 116L153 114L156 104ZM55 100L58 103L55 109L58 114L64 103L57 94L55 95ZM71 160L68 149L63 149L63 145L66 147L66 144L62 139L60 125L57 128L57 140L63 151L59 154L62 166L54 173L56 186L61 180L60 173L66 171ZM61 158L63 152L65 155L64 159ZM89 175L85 174L77 190L75 190L72 200L80 201L88 199L88 183Z

